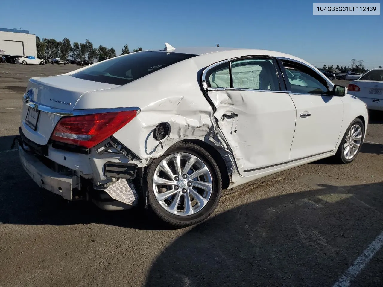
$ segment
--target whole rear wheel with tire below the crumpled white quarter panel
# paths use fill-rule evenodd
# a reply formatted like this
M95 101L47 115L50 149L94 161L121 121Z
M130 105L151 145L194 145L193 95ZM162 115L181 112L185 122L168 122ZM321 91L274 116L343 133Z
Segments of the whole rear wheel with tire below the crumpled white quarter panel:
M200 146L180 142L146 170L149 206L165 223L186 227L216 209L222 179L213 157Z

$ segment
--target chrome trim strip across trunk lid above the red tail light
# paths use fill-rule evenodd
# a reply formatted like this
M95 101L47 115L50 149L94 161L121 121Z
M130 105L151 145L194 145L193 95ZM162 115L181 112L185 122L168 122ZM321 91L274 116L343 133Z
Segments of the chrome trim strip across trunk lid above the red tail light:
M61 117L82 116L85 114L110 113L110 112L120 112L120 111L138 111L137 112L138 114L141 111L141 109L137 107L66 110L66 109L52 108L50 106L46 106L44 104L40 104L34 101L29 101L28 103L26 103L26 106L34 108L34 109L38 109L39 111L43 111L45 113L56 114Z

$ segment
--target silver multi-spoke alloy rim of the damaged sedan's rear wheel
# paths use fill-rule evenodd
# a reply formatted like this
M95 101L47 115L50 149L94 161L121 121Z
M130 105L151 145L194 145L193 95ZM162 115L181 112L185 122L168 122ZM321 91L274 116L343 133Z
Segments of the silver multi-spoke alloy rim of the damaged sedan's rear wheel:
M155 199L175 215L192 215L208 203L213 189L206 164L190 153L175 153L164 158L153 176Z

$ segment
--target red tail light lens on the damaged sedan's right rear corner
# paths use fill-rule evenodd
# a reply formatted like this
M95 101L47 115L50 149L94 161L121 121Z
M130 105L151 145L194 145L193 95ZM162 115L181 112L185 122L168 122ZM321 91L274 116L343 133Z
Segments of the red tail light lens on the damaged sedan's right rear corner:
M125 126L137 111L121 111L63 117L56 125L52 140L92 148Z

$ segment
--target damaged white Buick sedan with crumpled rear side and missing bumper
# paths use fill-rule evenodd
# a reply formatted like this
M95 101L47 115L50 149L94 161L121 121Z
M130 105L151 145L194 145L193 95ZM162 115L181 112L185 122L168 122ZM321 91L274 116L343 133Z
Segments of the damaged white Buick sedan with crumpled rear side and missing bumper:
M304 60L222 47L166 44L31 78L23 101L14 142L39 186L177 227L206 219L222 189L353 161L368 122L362 101Z

